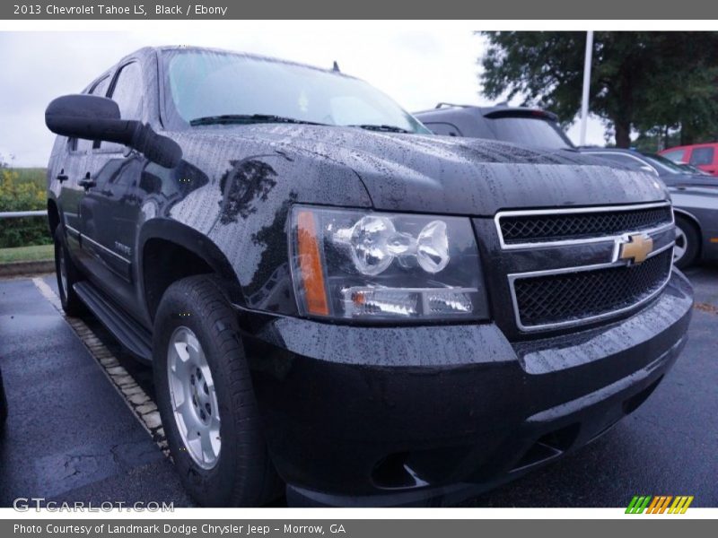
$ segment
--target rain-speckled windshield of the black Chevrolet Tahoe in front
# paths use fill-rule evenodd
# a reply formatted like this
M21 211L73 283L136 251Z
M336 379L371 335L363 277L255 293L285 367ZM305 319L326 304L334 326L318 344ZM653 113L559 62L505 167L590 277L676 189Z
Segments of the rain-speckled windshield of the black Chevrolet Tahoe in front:
M288 119L431 134L381 91L343 74L209 50L166 50L162 58L165 92L183 126L219 116L217 123L231 123L231 116L237 123Z

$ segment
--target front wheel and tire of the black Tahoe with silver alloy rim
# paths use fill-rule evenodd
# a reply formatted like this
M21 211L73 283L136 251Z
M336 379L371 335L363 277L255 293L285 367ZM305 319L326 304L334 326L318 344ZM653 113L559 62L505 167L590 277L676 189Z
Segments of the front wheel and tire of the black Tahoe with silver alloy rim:
M153 370L171 455L198 504L254 507L281 495L236 313L220 281L192 276L165 291L154 321ZM199 450L203 441L205 448Z

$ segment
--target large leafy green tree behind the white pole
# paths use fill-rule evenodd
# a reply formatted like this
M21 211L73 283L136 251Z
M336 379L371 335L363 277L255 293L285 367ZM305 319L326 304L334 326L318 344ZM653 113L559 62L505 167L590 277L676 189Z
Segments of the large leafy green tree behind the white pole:
M579 31L486 31L482 93L523 98L549 108L564 125L581 108L586 34ZM615 133L679 129L681 143L718 134L718 32L597 31L590 109Z

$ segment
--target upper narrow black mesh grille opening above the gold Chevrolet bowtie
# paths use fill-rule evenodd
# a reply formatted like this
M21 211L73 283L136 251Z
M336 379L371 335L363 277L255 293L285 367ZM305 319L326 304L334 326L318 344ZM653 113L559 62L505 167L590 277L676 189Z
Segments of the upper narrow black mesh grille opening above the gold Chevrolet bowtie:
M590 212L590 209L586 210ZM658 228L673 221L670 205L641 209L614 208L596 213L506 214L499 230L506 245L621 235Z

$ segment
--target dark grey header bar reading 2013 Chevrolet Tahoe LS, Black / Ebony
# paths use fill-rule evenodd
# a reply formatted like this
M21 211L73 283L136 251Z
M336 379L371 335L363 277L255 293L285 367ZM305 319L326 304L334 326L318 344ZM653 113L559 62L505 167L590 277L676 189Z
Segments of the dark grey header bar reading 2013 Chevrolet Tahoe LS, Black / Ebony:
M253 19L477 19L477 20L677 20L718 19L718 3L705 0L512 0L380 2L377 0L31 0L0 4L9 20L253 20Z

